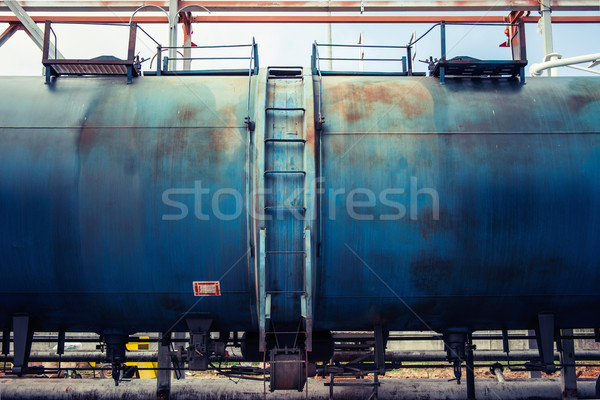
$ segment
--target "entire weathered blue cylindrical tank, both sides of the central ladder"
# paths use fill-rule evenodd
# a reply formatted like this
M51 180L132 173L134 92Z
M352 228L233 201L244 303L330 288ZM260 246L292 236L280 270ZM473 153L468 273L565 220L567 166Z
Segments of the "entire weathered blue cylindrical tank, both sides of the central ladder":
M600 326L600 79L314 85L315 331ZM257 330L248 77L0 88L0 322Z

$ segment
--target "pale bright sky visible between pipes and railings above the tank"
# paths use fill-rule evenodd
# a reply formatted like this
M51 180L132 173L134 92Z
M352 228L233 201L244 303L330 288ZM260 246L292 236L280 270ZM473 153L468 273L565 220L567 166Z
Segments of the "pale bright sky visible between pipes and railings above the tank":
M200 11L193 13L199 14ZM138 15L160 15L141 11ZM224 13L221 13L224 14ZM389 15L388 13L387 15ZM413 13L414 14L414 13ZM478 15L504 15L499 13L478 13ZM121 14L123 15L123 14ZM313 14L314 15L314 14ZM338 15L352 15L349 13ZM382 15L368 13L364 15ZM402 15L407 15L404 13ZM452 15L458 15L453 13ZM466 14L462 14L466 15ZM537 13L532 13L537 15ZM553 13L556 15L600 15L598 12L587 13ZM43 29L42 24L39 25ZM0 30L7 24L0 24ZM93 58L99 55L114 55L125 58L127 48L127 29L119 26L91 25L53 25L58 37L58 49L67 58ZM168 27L166 24L142 25L155 40L162 45L168 44ZM363 33L364 43L369 45L405 45L414 32L420 36L431 27L431 24L334 24L332 25L332 42L337 44L356 44ZM542 36L537 32L536 24L526 25L527 55L529 65L541 62L543 58ZM553 24L554 50L564 58L600 52L600 24ZM181 26L179 44L182 43ZM197 45L243 44L250 43L252 38L258 43L261 67L270 65L298 65L309 67L311 45L316 40L327 42L326 24L194 24L192 41ZM430 56L440 56L439 29L426 36L416 48L416 59L423 60ZM448 58L453 56L471 56L480 59L509 59L510 51L500 48L505 40L504 27L462 27L450 26L447 30ZM321 56L324 56L321 50ZM358 57L359 50L334 49L334 57ZM143 33L138 33L136 53L142 58L151 59L156 54L156 44ZM400 58L402 50L366 49L366 58ZM222 50L196 49L193 56L218 57L249 55L247 48ZM22 31L17 32L8 42L0 47L0 75L40 75L42 70L41 51ZM587 65L583 65L587 66ZM153 61L152 68L156 67ZM193 69L246 68L247 61L194 61ZM325 69L324 65L321 65ZM365 62L367 71L393 71L401 67L394 62ZM143 64L143 69L150 68L150 60ZM335 62L334 70L358 70L358 61ZM416 62L415 70L425 72L427 66ZM529 74L527 69L527 74ZM571 68L560 68L559 75L591 75Z

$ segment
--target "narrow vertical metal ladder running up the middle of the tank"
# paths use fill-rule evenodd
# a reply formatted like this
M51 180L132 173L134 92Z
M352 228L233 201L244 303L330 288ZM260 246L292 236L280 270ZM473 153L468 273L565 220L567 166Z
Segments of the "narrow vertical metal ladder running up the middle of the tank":
M306 109L302 67L269 67L264 135L264 215L259 253L259 348L296 321L312 350L310 228L305 222ZM312 116L311 116L312 118ZM303 325L304 328L301 328ZM273 331L269 332L272 327ZM284 329L288 331L289 329Z

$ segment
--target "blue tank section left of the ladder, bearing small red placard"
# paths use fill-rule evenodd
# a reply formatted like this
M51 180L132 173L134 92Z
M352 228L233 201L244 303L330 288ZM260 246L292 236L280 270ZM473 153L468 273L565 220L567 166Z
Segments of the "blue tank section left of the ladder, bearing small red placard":
M217 193L246 190L248 77L0 86L3 324L156 331L186 311L251 324L245 203ZM222 295L194 297L193 281Z

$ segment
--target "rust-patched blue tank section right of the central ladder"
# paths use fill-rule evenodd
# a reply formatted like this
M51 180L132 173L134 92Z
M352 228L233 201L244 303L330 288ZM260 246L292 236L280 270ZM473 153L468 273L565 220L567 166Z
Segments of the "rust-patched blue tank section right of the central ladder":
M600 324L599 79L325 76L322 93L316 330Z

